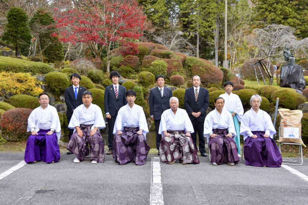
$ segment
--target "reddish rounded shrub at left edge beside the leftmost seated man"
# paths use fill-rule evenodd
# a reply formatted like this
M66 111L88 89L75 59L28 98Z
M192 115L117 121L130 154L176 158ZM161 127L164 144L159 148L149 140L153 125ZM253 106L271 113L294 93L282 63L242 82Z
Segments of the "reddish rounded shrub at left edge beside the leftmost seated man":
M4 112L1 116L2 137L8 141L28 137L28 117L31 112L29 108L14 108Z

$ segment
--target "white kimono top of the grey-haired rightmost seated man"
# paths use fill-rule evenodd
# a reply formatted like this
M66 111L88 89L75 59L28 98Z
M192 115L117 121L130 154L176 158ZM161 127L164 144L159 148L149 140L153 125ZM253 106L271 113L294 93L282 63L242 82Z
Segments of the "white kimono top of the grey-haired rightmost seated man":
M258 112L254 112L252 108L245 112L241 121L240 134L244 135L244 140L247 137L253 136L251 131L263 131L265 134L273 138L276 130L272 123L272 119L267 112L259 108Z

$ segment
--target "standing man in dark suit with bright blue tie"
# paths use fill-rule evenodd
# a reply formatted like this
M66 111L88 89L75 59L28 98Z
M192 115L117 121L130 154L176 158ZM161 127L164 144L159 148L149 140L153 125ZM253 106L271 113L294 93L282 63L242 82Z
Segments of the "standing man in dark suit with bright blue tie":
M73 85L66 88L64 92L65 104L67 106L66 116L68 124L71 121L74 109L83 104L82 93L87 90L86 88L79 86L81 76L78 73L71 74L71 81ZM68 140L70 140L74 129L69 128L68 130ZM73 154L73 152L69 151L67 154Z

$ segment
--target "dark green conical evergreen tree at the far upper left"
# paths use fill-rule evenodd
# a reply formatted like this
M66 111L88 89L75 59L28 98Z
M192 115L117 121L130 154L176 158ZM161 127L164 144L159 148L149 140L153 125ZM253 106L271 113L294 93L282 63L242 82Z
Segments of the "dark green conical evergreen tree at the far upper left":
M24 10L12 7L7 16L6 31L2 35L2 40L15 46L15 56L20 56L19 46L30 45L31 34L27 24L28 16Z

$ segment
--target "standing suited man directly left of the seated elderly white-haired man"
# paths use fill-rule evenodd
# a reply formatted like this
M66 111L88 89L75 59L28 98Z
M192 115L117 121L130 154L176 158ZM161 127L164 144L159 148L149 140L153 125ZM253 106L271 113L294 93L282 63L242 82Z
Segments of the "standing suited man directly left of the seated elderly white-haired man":
M158 134L161 114L170 109L169 99L172 97L172 90L164 87L165 77L158 75L156 77L157 87L150 90L149 105L151 119L154 120L156 131L156 148L159 148L161 135ZM158 152L158 155L160 153Z

